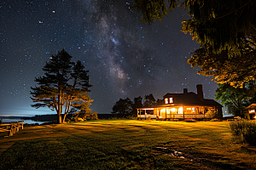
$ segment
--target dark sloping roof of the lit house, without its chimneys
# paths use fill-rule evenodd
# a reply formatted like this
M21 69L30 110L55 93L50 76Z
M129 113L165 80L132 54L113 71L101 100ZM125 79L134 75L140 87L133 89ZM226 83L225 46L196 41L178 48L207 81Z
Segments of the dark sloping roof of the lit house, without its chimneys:
M199 99L198 95L189 92L185 94L166 94L164 95L164 98L173 98L173 103L171 105L207 105L207 106L221 106L223 105L218 104L217 101L214 99ZM170 105L170 106L171 106ZM163 101L162 104L159 106L166 106L165 101Z

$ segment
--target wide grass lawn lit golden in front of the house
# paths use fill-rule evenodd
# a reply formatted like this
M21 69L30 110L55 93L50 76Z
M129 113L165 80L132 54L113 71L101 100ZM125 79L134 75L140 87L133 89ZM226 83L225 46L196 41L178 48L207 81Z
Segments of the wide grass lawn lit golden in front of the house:
M172 153L179 153L173 156ZM0 136L0 169L256 169L229 122L99 120Z

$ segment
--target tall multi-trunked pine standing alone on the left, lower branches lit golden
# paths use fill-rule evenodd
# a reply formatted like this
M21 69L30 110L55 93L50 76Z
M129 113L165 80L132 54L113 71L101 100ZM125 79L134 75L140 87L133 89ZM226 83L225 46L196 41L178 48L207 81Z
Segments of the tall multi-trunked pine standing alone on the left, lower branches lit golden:
M38 86L31 88L31 99L37 103L32 107L36 109L49 107L52 111L56 111L58 123L65 122L72 102L84 101L86 92L89 92L88 88L91 87L88 71L84 71L84 65L81 61L73 63L71 59L72 56L64 49L52 55L49 62L44 65L44 76L35 78ZM61 120L62 113L63 120Z

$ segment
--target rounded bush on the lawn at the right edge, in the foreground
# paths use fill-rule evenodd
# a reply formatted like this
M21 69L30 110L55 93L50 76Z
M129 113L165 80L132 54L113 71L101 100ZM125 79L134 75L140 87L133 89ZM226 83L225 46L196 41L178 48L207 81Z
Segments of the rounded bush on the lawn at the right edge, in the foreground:
M246 120L230 122L230 132L237 143L256 145L256 122Z

